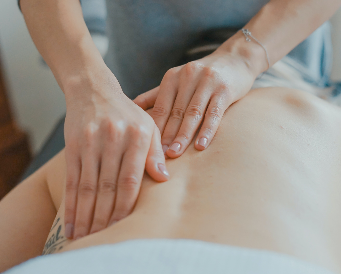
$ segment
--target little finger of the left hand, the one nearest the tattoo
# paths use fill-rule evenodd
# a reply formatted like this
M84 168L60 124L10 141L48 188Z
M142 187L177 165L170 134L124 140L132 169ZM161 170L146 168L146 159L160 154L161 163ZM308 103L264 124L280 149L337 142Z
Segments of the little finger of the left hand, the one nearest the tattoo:
M65 149L66 186L65 186L65 237L72 239L77 205L77 192L80 177L80 158L69 146Z

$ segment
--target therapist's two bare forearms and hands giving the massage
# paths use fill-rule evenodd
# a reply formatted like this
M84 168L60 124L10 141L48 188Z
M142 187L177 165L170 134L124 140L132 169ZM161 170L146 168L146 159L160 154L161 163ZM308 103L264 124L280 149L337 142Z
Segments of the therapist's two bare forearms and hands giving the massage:
M144 170L155 181L166 181L165 157L180 156L202 122L194 147L206 149L226 108L268 68L264 49L238 32L209 56L170 69L159 87L134 104L94 46L78 0L20 3L32 39L65 94L68 238L84 237L126 217ZM245 28L267 48L271 66L340 4L272 0ZM143 109L152 106L150 117Z

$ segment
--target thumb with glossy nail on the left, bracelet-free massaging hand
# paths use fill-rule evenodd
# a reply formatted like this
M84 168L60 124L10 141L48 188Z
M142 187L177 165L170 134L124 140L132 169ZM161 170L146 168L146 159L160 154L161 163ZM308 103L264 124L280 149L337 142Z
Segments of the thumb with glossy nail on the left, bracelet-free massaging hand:
M169 179L165 155L161 146L161 134L156 125L154 125L154 133L147 155L146 171L157 182L165 182Z

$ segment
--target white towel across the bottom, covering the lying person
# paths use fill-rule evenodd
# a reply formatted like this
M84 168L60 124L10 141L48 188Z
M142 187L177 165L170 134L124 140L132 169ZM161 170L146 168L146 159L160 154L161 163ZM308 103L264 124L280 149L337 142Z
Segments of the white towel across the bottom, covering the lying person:
M40 256L4 274L332 274L292 256L186 239L130 240Z

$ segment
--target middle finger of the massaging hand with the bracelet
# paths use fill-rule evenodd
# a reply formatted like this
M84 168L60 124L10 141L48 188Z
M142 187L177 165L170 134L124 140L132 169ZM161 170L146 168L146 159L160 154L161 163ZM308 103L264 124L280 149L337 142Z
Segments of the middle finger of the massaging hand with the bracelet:
M193 62L186 64L181 69L178 94L161 137L164 149L166 145L168 148L179 132L185 112L197 87L199 72L200 70Z

